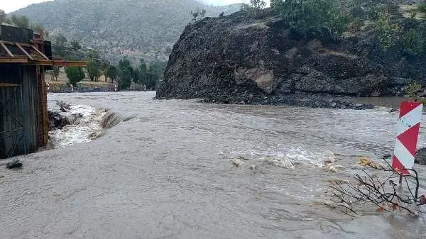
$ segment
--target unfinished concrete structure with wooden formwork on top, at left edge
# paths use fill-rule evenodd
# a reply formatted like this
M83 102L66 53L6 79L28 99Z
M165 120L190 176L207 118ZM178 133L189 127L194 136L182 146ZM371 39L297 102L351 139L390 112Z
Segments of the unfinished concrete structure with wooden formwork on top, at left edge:
M48 143L45 70L86 62L55 60L43 33L0 25L0 159L35 152Z

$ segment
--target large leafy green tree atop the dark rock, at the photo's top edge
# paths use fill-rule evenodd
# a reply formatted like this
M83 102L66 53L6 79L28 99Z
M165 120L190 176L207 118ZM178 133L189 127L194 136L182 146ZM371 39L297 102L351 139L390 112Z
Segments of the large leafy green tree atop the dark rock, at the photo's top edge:
M349 24L349 13L339 0L271 0L271 6L300 35L339 38Z

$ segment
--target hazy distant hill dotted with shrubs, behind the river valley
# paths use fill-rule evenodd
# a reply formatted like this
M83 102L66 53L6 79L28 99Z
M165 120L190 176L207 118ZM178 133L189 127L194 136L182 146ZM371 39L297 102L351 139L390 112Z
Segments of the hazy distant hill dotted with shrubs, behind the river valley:
M53 35L65 35L98 50L116 62L123 55L167 60L170 48L192 16L206 9L206 16L239 11L240 4L207 6L195 0L56 0L32 4L13 14L41 23ZM133 59L132 59L133 58Z

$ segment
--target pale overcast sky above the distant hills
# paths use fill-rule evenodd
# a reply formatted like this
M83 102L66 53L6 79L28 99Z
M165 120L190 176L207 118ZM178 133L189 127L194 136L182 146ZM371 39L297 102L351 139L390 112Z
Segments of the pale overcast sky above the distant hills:
M23 7L28 6L30 4L36 4L43 1L52 1L52 0L0 0L1 2L0 9L3 9L4 11L6 11L6 13L10 13L11 11L22 9ZM147 1L147 0L141 0L141 1ZM212 5L226 5L226 4L237 4L241 2L249 2L249 0L201 0L201 1L204 1L207 4L212 4Z

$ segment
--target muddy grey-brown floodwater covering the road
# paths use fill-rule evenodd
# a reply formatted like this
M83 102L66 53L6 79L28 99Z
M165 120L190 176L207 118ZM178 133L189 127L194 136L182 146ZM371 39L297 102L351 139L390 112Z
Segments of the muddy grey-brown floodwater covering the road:
M324 205L327 180L350 180L359 156L393 151L398 112L154 96L49 94L49 104L127 119L97 140L84 121L64 136L74 144L57 137L61 147L18 157L22 169L2 165L0 238L426 238L426 216L365 206L352 218ZM415 168L425 194L426 168Z

